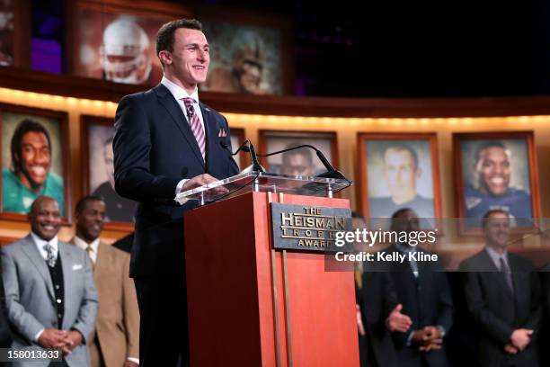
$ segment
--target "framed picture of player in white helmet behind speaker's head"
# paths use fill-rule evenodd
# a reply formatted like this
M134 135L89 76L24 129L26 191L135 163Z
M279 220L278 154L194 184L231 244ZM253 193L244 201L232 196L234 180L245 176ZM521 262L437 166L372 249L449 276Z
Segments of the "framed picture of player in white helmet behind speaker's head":
M155 85L163 76L156 57L158 29L189 13L154 1L75 1L67 32L69 72L130 85Z

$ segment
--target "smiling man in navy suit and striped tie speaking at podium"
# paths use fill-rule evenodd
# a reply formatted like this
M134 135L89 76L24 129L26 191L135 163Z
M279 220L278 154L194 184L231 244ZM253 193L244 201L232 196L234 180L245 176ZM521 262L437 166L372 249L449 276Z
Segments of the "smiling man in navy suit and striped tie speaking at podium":
M208 42L200 22L179 20L157 33L160 85L124 97L115 117L115 189L138 201L130 274L141 316L140 365L188 359L182 216L174 196L238 173L226 119L199 102Z

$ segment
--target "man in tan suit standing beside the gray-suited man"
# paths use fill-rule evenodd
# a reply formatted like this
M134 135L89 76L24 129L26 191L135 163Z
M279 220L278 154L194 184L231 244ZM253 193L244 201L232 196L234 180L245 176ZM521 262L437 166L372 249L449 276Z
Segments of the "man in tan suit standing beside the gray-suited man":
M100 240L106 205L85 196L76 203L76 235L71 244L82 248L93 263L93 280L101 303L95 333L88 338L92 367L139 365L139 309L129 277L129 254Z

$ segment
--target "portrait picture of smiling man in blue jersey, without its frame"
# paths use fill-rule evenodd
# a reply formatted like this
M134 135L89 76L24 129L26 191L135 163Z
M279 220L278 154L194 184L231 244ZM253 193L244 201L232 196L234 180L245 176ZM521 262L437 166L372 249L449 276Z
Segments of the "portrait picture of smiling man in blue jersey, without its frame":
M469 162L473 175L465 185L466 217L470 225L475 225L488 210L506 210L518 226L533 218L527 146L524 143L519 139L510 142L476 141L475 149L471 150L475 156ZM466 146L461 148L464 152ZM515 157L513 151L525 159ZM475 227L479 227L479 223Z

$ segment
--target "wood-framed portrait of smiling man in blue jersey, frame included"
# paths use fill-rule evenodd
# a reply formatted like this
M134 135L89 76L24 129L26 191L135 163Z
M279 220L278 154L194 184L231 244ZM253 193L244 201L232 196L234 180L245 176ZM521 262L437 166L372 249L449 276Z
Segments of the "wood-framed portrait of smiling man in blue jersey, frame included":
M453 156L462 233L481 233L494 209L508 211L512 227L533 227L540 217L533 131L454 133Z

